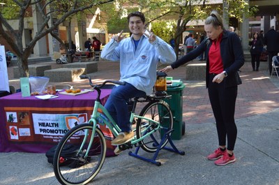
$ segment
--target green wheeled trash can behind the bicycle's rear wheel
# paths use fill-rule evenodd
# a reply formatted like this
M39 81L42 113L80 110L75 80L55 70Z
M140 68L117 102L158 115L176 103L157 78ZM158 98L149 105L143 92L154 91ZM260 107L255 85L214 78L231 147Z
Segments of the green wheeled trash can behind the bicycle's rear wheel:
M172 95L172 98L164 99L169 104L174 118L174 131L171 136L173 140L180 140L185 133L185 122L182 120L184 87L185 84L181 80L173 80L172 85L167 86L167 94Z

